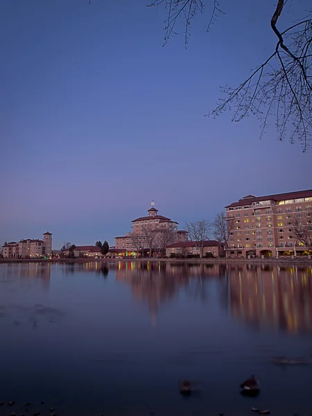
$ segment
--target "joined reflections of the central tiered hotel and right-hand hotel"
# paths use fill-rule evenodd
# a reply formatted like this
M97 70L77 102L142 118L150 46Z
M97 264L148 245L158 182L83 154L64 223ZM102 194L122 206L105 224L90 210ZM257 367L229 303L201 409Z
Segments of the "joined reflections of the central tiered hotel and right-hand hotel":
M183 289L204 302L216 296L233 318L255 328L312 331L311 267L248 264L119 262L116 280L132 288L135 300L148 303L153 322L162 304ZM218 283L216 294L211 283Z

